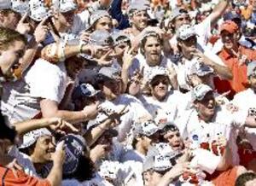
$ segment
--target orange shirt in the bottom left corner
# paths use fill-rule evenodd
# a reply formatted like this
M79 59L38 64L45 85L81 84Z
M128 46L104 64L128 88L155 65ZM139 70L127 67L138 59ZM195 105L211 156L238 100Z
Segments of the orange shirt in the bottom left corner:
M18 177L15 177L13 171L0 166L0 186L50 186L46 179L31 177L23 171L17 171Z

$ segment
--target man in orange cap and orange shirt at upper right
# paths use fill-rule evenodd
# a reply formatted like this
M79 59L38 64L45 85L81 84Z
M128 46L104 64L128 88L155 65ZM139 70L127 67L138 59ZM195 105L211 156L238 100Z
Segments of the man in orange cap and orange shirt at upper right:
M231 20L225 21L220 26L220 34L224 47L218 56L230 68L233 79L229 81L218 80L216 88L218 93L231 90L230 99L232 99L236 93L247 88L247 64L256 59L256 50L248 49L239 44L241 32L236 23Z

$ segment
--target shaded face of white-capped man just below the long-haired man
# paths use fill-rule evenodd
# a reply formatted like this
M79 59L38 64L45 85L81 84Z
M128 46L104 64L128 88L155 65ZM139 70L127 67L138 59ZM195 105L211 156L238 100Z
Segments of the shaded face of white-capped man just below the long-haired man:
M152 96L154 96L158 101L164 100L168 93L168 87L170 84L169 78L167 76L158 75L152 79L150 84Z

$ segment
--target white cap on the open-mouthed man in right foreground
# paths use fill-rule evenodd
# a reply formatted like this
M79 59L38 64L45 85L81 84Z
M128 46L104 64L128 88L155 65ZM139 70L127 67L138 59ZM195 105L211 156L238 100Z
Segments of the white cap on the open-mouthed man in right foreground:
M208 92L212 91L212 88L207 84L198 84L192 90L192 102L201 101L207 95Z

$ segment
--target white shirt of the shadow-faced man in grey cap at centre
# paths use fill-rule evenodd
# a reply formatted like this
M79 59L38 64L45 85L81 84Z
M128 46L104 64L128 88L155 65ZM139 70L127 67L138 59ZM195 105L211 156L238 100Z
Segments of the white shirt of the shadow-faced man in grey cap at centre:
M131 131L131 125L137 121L137 119L148 114L147 110L143 108L142 102L130 95L121 95L113 101L107 100L102 102L101 106L107 113L119 112L125 106L127 106L126 109L129 109L129 112L121 117L121 123L117 126L117 130L119 131L119 142L125 140L126 135ZM106 118L107 116L105 114L98 114L96 117L96 124L101 123L101 121Z

